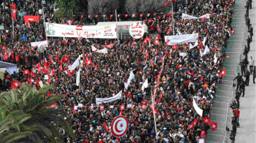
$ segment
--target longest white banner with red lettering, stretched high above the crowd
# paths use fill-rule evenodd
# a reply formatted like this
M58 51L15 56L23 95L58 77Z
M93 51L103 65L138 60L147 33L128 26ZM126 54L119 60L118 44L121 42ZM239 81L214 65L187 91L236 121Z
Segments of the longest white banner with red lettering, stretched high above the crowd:
M76 26L46 22L46 36L116 39L116 25Z

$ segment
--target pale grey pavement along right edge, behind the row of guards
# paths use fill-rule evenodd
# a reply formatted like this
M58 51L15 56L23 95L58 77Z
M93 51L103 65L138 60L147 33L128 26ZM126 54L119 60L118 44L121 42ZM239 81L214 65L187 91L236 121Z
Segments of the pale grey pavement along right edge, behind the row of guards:
M244 9L245 11L245 9ZM256 1L252 1L252 9L250 9L250 19L253 27L252 43L248 59L252 56L256 64ZM255 79L256 81L256 79ZM255 143L256 142L256 84L252 82L250 76L249 87L245 87L244 97L240 97L240 128L237 129L236 143Z

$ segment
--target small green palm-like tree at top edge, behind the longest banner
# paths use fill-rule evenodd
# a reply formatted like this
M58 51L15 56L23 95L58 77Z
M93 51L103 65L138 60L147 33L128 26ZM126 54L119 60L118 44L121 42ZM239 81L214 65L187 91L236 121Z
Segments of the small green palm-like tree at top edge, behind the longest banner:
M53 14L60 19L70 20L79 10L79 0L55 0L58 11Z

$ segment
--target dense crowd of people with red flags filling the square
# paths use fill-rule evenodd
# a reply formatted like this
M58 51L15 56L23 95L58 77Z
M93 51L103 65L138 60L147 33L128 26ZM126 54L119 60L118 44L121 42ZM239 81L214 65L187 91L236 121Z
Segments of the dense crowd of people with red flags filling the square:
M47 3L47 1L45 1ZM45 6L45 21L62 24L56 19L53 7L47 4L35 4L33 1L17 0L17 20L14 21L14 37L12 35L12 19L9 3L0 6L2 61L17 64L19 71L12 75L4 74L1 90L9 90L11 82L27 82L40 89L43 84L55 84L53 94L63 94L65 97L58 102L58 106L74 107L83 104L83 107L66 109L72 119L72 129L76 134L75 139L70 139L63 129L60 132L65 136L65 142L198 142L204 139L209 124L204 123L204 117L210 119L210 107L216 96L216 84L219 83L222 65L227 48L227 39L232 31L232 6L234 1L177 1L175 19L172 31L169 17L143 19L147 24L149 33L142 39L133 42L132 37L120 39L120 44L115 39L72 39L66 38L50 40L43 58L40 61L39 47L31 47L30 42L45 40L42 7ZM19 5L19 6L18 6ZM182 13L193 16L209 14L210 19L180 19ZM40 15L37 23L24 24L24 15ZM83 19L74 19L74 24L84 24ZM160 31L157 29L160 28ZM207 36L205 45L209 46L209 53L200 56L200 50L205 46L196 46L189 49L189 44L167 46L164 36L173 34L198 33L198 42ZM155 44L154 35L159 35L160 44ZM145 43L148 36L152 41ZM133 43L133 44L132 44ZM91 46L101 49L101 45L114 44L108 49L108 54L93 53ZM180 56L180 52L186 56ZM218 62L214 63L214 54ZM69 65L81 55L81 64L74 73L67 71ZM86 65L85 59L91 59L93 64ZM44 60L44 59L43 59ZM38 68L38 63L47 64L47 69ZM165 64L163 64L163 62ZM37 65L37 66L36 66ZM163 68L157 79L160 69ZM24 75L26 69L35 73ZM63 70L61 70L63 69ZM76 86L76 71L81 70L81 82ZM54 74L50 75L49 73ZM67 72L65 72L67 71ZM135 78L128 89L124 89L130 71ZM68 73L68 74L67 74ZM45 75L49 78L45 78ZM9 76L8 76L9 75ZM148 79L149 86L142 92L142 82ZM155 132L153 112L151 109L151 93L157 89L155 96L156 127ZM122 98L106 104L96 105L97 98L112 97L122 91ZM45 95L46 96L46 95ZM196 99L198 107L204 110L200 117L192 105L192 98ZM134 106L127 107L127 104ZM146 108L142 109L142 104ZM110 125L114 117L119 116L120 106L125 109L122 115L129 121L127 133L116 139L111 135ZM100 109L104 106L104 109ZM113 107L114 106L114 107ZM74 110L74 111L73 111ZM108 131L104 128L106 122ZM193 127L188 128L191 124ZM206 134L204 134L206 132ZM157 138L156 138L157 136ZM119 141L118 141L119 140Z

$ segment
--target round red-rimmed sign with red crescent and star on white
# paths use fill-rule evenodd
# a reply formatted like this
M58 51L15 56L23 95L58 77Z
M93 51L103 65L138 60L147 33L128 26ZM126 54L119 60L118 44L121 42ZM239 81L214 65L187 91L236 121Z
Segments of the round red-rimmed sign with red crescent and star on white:
M120 115L111 122L111 133L114 137L122 137L128 129L128 120Z

